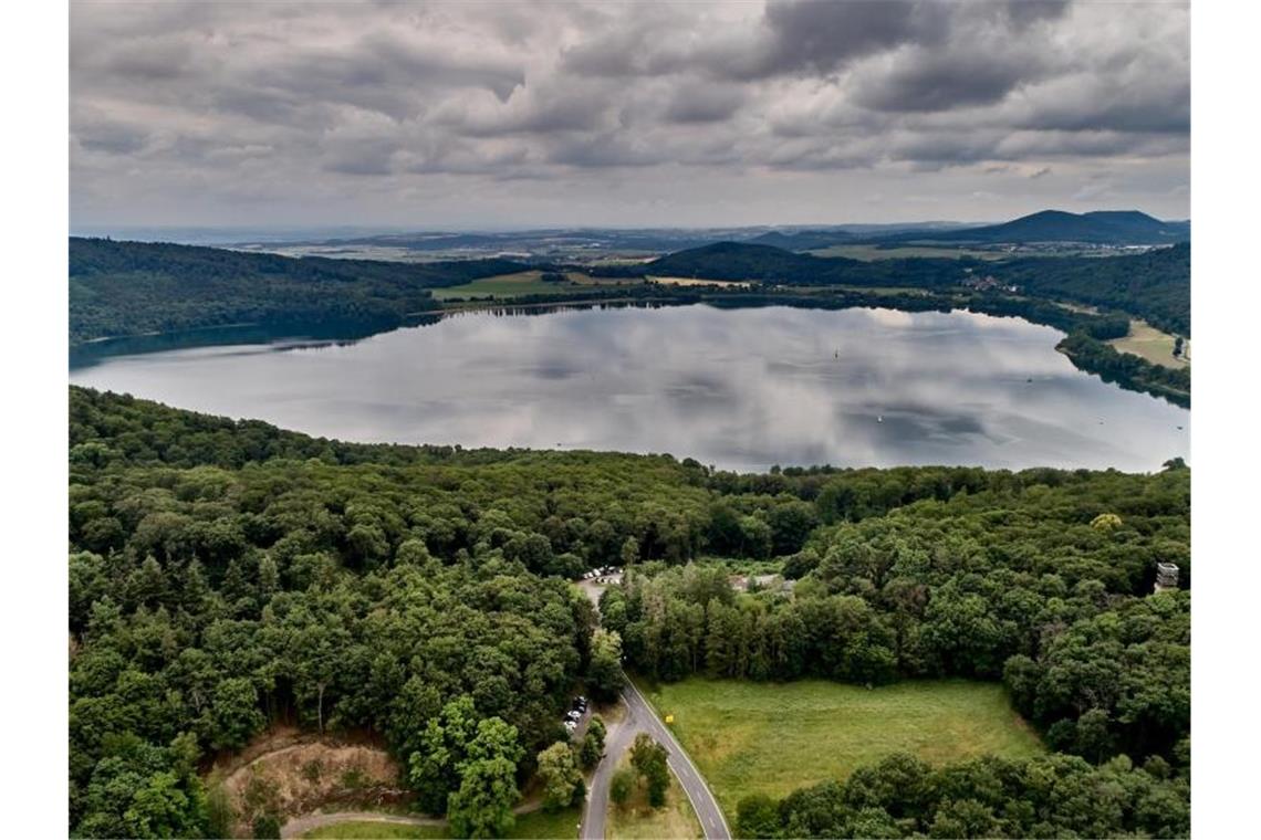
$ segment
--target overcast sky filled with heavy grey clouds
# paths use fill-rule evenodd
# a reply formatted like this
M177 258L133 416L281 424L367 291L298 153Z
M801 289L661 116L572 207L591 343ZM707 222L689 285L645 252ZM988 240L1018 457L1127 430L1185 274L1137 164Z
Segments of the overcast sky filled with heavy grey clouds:
M1189 218L1185 3L71 5L71 225Z

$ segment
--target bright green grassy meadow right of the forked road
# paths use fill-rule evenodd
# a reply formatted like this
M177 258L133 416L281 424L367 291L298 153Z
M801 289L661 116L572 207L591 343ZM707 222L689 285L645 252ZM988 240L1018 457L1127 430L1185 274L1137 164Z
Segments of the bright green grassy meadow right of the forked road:
M1001 685L907 681L866 689L691 679L648 694L726 812L750 793L782 797L905 751L931 763L1044 752Z

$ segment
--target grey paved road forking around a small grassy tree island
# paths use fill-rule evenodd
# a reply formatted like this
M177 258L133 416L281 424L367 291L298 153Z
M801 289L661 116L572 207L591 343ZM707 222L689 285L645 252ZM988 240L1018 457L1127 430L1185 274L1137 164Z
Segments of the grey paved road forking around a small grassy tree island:
M641 732L647 732L657 743L670 751L670 769L675 773L683 792L696 811L696 817L705 830L706 840L730 840L731 830L723 819L723 810L718 806L709 786L701 778L700 772L692 764L687 753L670 729L666 728L653 712L648 701L639 694L629 680L622 691L622 701L625 704L627 714L613 729L604 744L604 758L600 759L591 777L591 790L586 797L586 809L583 812L583 827L579 835L583 840L604 840L604 817L609 809L609 781L613 778L613 769L618 759L625 752L634 737Z

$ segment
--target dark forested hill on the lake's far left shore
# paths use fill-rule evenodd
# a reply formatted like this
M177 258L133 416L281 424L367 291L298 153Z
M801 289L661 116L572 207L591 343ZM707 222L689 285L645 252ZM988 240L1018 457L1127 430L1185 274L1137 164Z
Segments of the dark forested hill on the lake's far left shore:
M416 266L72 237L71 344L236 324L390 329L438 306L427 288L523 268L506 259Z

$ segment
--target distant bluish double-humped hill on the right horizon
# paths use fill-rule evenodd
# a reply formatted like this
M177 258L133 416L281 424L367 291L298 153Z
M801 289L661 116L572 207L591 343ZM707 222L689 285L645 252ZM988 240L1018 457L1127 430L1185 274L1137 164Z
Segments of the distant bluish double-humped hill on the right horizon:
M879 242L1026 243L1083 242L1110 246L1174 244L1190 239L1189 222L1161 222L1137 210L1064 213L1042 210L1002 224L962 230L907 230Z

